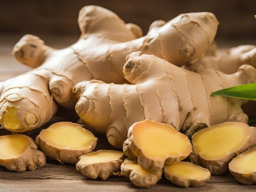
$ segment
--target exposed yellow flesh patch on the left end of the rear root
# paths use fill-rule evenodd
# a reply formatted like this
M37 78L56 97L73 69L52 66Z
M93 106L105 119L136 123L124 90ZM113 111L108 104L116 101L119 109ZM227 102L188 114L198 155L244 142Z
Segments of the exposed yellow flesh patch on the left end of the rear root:
M20 123L19 119L16 116L17 108L16 107L9 107L7 106L5 108L6 112L2 117L2 123L4 127L8 130L12 130L15 132L15 130L20 129Z

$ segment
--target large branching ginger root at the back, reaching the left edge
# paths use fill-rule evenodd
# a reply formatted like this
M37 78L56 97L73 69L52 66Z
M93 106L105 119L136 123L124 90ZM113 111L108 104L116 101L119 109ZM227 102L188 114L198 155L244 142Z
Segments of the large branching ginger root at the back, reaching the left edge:
M148 34L141 37L137 25L125 24L116 14L98 6L82 8L78 23L80 39L68 48L50 48L33 35L25 35L15 45L15 58L35 69L0 83L0 124L4 128L25 132L40 127L56 112L55 101L75 107L72 89L80 81L127 82L123 65L125 57L134 51L154 54L178 66L199 59L212 43L219 24L212 13L181 14L167 23L153 22ZM3 118L8 107L14 111L8 117L17 118L16 126L8 125L8 118Z

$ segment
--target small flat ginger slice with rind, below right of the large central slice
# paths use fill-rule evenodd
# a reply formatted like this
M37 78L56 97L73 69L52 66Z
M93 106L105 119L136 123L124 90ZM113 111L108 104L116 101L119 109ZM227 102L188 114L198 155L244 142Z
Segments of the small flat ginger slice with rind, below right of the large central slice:
M209 181L211 173L190 162L177 162L164 167L165 177L180 187L199 187Z

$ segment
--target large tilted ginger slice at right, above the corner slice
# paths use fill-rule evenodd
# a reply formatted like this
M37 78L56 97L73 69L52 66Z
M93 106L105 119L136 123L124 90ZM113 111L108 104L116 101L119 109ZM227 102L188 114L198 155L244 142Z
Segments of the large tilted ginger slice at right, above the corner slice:
M256 128L240 122L221 123L192 136L193 153L189 158L213 175L224 175L229 162L252 144L256 144Z

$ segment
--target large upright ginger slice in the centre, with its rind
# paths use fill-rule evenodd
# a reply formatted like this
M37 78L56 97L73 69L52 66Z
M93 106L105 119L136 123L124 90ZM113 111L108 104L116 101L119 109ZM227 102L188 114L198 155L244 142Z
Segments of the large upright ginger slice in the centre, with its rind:
M192 151L186 135L170 125L144 120L128 130L129 149L144 169L162 171L164 165L185 159ZM130 153L131 154L131 153Z

